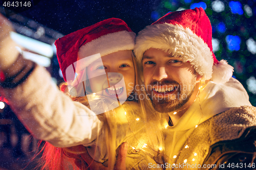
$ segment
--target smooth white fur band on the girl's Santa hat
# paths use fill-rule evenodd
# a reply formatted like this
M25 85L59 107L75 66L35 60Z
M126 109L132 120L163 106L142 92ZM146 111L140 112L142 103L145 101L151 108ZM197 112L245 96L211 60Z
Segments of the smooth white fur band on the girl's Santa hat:
M136 34L134 32L119 31L103 35L79 48L78 59L99 53L105 56L122 50L133 50ZM91 63L87 63L87 66Z

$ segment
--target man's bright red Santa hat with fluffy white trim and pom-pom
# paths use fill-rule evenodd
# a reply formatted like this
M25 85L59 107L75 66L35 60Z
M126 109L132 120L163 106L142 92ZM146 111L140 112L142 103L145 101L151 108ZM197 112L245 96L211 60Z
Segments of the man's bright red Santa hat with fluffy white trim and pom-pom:
M138 63L149 48L158 48L189 61L203 80L227 82L233 67L212 52L210 20L203 8L169 12L140 31L134 48Z

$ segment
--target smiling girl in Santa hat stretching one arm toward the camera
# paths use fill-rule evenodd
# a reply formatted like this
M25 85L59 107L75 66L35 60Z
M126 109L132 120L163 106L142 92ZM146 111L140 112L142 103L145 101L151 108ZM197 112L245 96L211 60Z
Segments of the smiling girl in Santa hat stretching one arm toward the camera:
M150 118L145 118L145 114L138 114L144 112L143 104L141 104L142 108L139 108L138 103L123 104L134 90L134 85L137 84L132 57L134 38L135 34L124 21L111 18L56 41L57 56L63 77L68 83L70 94L76 95L72 98L79 102L72 102L68 96L58 91L50 83L50 76L43 68L30 61L24 63L22 57L16 59L14 66L24 67L20 69L23 71L13 73L10 71L13 64L8 67L9 63L3 60L5 56L1 56L3 62L0 69L3 68L8 80L1 84L2 90L20 121L37 138L46 140L59 148L82 144L88 147L88 153L94 159L105 163L111 169L115 164L115 150L127 140L131 143L128 149L131 161L126 161L126 168L147 168L149 162L156 163L153 156L161 153L161 149L158 149L162 148L162 136L157 132L160 128L154 128L158 124L154 124L153 121L144 124L147 120L158 120L157 115L147 112ZM98 53L100 55L97 55ZM94 64L100 63L97 61L99 59L102 60L102 64L98 67ZM112 72L119 72L124 79ZM108 75L107 78L106 75ZM113 75L119 76L120 81L113 83L111 80ZM104 76L105 81L103 81ZM124 84L120 85L122 80ZM96 87L95 84L99 85L100 82L102 85ZM84 96L84 93L87 96ZM97 94L106 95L107 98L100 96L95 99ZM114 96L116 99L112 99ZM89 103L94 112L81 103L86 105ZM103 107L105 103L106 107ZM103 112L106 113L95 116ZM150 131L144 133L146 128L144 125L147 125L148 129L154 129L154 136L147 134ZM150 144L146 141L150 141ZM133 145L135 143L137 144ZM107 148L104 148L104 145ZM57 148L48 150L47 147L45 149L45 159L48 160L46 162L48 164L50 159L47 158L46 153L59 150ZM66 153L72 152L66 149ZM58 153L63 156L62 151ZM69 154L64 154L64 157L67 155ZM107 159L108 162L106 162ZM64 168L62 160L52 161L49 168Z

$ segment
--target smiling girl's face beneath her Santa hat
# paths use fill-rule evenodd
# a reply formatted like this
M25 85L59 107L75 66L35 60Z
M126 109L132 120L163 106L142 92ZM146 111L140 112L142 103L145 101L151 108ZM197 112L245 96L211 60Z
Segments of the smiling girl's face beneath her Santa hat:
M87 67L93 93L126 100L134 89L135 68L131 50L103 56Z

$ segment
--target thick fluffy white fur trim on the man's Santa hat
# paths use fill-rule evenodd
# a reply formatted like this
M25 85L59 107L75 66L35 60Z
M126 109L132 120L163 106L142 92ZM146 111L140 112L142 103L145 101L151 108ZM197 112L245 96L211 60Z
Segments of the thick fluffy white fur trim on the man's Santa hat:
M147 26L136 38L134 52L139 63L149 48L158 48L184 62L189 61L203 80L211 78L214 59L210 48L188 28L169 23Z

